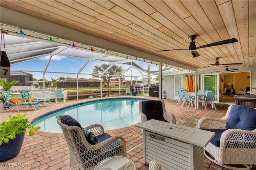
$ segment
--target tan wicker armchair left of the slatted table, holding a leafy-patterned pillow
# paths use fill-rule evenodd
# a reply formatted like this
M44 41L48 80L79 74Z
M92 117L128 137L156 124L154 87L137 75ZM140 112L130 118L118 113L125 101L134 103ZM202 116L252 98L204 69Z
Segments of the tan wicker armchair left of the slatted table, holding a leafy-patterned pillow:
M57 116L68 148L71 170L93 170L102 160L112 156L126 157L126 141L122 136L110 136L99 124L82 127L69 115Z

